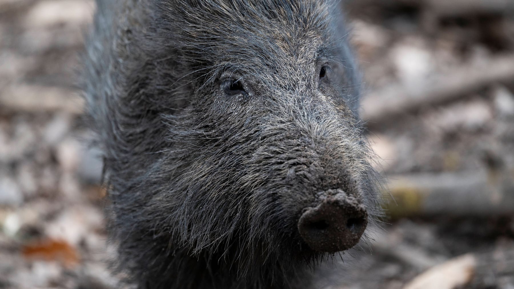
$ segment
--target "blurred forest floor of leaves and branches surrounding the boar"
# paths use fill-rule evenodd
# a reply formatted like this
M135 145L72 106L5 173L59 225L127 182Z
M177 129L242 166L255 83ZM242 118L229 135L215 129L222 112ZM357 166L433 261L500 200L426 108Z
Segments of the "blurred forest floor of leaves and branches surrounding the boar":
M334 288L514 288L514 0L346 0L388 178ZM91 0L0 0L0 288L114 288L74 87Z

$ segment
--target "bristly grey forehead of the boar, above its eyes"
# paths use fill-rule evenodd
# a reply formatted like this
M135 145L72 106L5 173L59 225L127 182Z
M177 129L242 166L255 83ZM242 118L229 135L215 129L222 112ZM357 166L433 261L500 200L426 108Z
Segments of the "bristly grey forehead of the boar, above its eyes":
M202 69L207 79L231 70L276 81L269 76L284 69L291 78L293 70L311 74L318 62L344 61L338 53L340 37L331 36L337 28L329 11L336 7L328 2L159 2L159 11L175 34L183 61Z

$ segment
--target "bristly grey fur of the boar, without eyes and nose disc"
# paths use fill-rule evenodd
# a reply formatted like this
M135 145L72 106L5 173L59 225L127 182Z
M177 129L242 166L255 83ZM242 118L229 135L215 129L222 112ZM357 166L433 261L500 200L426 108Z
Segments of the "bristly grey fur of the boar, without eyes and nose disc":
M302 209L340 188L380 213L337 3L97 4L81 79L127 281L309 287L332 255L300 238Z

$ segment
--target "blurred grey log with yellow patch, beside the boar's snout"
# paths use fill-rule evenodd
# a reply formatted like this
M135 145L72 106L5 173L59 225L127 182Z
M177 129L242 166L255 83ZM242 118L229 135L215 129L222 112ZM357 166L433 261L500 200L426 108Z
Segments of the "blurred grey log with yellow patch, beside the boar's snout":
M514 214L514 172L466 171L389 178L393 217Z

